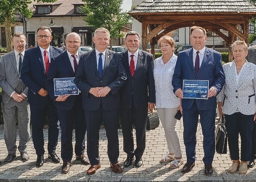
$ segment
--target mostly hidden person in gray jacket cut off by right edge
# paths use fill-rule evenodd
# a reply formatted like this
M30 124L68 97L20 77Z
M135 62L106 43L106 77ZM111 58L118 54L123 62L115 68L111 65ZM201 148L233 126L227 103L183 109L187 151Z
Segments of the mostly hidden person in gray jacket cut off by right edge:
M248 55L246 57L247 61L256 65L256 45L248 47ZM251 160L248 161L248 168L252 168L255 165L256 159L256 123L254 123L254 129L252 130L252 154Z

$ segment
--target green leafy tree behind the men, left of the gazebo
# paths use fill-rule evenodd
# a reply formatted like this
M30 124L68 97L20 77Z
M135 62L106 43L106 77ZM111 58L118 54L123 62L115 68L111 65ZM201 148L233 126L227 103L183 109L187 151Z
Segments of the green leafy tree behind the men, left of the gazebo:
M131 16L122 11L123 0L82 0L81 11L86 14L84 21L94 29L104 27L110 32L110 38L124 36L120 33L123 25L131 23ZM112 43L110 41L110 47Z

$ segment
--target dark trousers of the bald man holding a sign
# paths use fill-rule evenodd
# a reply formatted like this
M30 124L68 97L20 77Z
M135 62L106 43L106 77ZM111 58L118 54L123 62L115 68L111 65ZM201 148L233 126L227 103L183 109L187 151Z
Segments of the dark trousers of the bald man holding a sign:
M80 100L78 99L80 98ZM73 157L73 126L75 123L75 154L83 155L85 149L84 137L86 123L82 108L82 97L76 96L72 110L60 110L58 117L61 126L61 158L63 161L71 161Z

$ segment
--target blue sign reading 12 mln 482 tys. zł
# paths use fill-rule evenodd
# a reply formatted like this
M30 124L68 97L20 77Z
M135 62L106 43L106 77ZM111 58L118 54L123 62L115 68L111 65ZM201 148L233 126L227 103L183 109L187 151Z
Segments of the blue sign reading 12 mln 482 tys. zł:
M209 80L183 80L183 98L208 99Z

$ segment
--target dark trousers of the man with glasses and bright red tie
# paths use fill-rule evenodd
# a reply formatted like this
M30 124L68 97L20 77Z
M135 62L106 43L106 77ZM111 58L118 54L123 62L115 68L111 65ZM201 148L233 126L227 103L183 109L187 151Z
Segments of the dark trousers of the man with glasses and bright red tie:
M47 104L30 104L30 121L32 123L32 141L36 155L44 155L44 123L48 116L48 153L55 152L58 144L60 123L57 109L50 96L47 96Z

